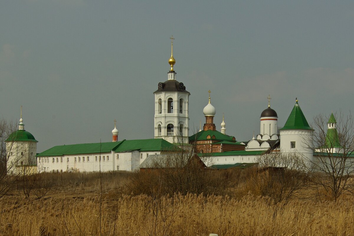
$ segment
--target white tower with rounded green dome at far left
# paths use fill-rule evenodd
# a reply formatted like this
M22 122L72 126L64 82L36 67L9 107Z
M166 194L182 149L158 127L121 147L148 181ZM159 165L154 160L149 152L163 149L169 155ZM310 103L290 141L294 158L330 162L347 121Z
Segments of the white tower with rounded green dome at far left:
M22 106L21 106L21 118L18 124L18 130L11 133L5 140L6 153L7 153L7 172L18 173L32 171L31 166L36 165L36 152L37 152L37 140L34 136L24 129L22 119ZM24 169L25 167L28 167Z

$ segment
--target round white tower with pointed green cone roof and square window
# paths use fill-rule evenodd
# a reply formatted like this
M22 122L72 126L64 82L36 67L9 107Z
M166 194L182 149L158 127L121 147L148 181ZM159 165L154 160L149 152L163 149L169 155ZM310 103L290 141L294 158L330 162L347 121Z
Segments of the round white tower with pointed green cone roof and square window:
M297 152L305 160L313 160L313 129L308 124L297 98L289 118L279 131L280 150L282 152Z

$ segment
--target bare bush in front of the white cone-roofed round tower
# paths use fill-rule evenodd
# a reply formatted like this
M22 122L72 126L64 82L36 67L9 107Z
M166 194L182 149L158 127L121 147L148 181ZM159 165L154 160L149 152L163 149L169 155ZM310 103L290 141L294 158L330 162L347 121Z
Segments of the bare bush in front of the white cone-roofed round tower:
M259 168L249 178L252 192L273 198L276 202L288 202L308 186L301 156L297 153L270 151L258 157Z

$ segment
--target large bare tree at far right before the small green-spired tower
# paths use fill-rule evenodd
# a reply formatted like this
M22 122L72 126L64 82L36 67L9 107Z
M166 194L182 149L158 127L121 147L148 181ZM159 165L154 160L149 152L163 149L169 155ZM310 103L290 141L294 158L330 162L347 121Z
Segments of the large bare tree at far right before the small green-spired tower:
M354 120L339 113L326 117L319 114L314 118L315 129L312 140L307 144L314 152L308 172L319 189L318 196L337 201L345 193L353 194L354 185L350 178L354 174Z

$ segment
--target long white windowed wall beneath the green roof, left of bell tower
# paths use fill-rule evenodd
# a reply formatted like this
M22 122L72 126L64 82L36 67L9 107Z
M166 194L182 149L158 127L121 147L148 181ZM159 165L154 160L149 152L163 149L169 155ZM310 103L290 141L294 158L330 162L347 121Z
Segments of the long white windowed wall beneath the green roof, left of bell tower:
M90 154L74 154L63 156L37 157L38 172L108 172L108 171L134 171L152 154L160 154L160 151L150 152L106 152ZM100 158L101 156L101 158Z

